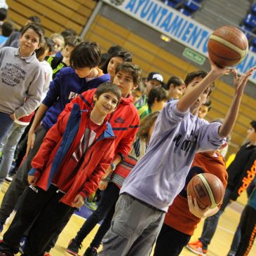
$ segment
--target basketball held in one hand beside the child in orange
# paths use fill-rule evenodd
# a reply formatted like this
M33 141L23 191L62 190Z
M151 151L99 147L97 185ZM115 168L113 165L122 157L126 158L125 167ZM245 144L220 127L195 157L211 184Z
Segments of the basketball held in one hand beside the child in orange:
M222 203L224 186L217 176L211 173L201 173L190 180L187 185L187 194L196 198L200 208L215 208Z

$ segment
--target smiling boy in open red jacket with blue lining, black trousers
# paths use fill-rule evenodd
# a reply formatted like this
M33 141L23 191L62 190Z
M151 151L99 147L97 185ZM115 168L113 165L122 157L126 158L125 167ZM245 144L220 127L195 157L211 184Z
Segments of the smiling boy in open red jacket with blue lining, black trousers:
M95 191L114 156L115 135L107 120L120 100L116 85L102 83L93 95L94 107L74 105L50 128L32 161L30 186L4 234L0 255L18 252L20 239L33 221L24 255L43 255L62 220Z

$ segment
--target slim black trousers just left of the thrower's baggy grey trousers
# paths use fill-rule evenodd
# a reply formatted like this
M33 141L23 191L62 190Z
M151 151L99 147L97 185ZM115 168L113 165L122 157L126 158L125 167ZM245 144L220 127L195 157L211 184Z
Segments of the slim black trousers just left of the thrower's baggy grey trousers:
M100 246L103 236L105 236L109 230L111 220L114 215L116 201L119 198L119 191L119 187L117 187L114 183L109 182L107 189L105 189L105 191L102 193L97 210L95 210L95 212L88 217L86 222L83 223L83 226L76 234L77 241L82 242L90 231L93 230L96 224L105 218L104 222L100 225L100 229L98 229L93 242L91 243L93 247L98 248Z

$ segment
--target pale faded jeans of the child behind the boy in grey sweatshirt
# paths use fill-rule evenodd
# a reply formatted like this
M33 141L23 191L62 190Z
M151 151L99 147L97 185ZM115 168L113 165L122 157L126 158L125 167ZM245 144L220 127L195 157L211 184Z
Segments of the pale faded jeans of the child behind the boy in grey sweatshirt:
M3 157L0 164L0 186L11 168L15 149L25 128L26 126L13 122L11 130L4 138Z

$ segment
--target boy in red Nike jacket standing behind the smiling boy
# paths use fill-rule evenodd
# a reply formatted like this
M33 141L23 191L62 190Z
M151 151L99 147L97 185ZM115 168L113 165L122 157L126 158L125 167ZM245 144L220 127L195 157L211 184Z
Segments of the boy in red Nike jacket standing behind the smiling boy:
M67 251L72 255L77 255L83 239L90 233L93 227L95 227L100 220L111 215L112 209L119 198L119 187L114 184L114 182L108 182L108 180L113 172L116 175L119 175L119 182L122 182L126 178L126 175L119 173L119 168L116 168L116 166L124 157L128 156L140 124L140 118L137 109L133 105L133 96L130 92L137 88L137 84L140 83L141 69L131 62L123 62L116 67L115 73L114 83L121 88L122 97L119 106L109 119L109 123L111 123L114 134L116 135L116 140L114 142L114 159L106 170L105 179L100 182L100 189L105 190L102 193L100 205L97 210L88 217L79 230L76 238L72 239L68 245ZM76 97L72 102L66 105L65 111L62 112L62 114L69 112L74 103L78 103L80 106L88 103L91 104L92 97L93 90L88 90L82 93L79 97ZM109 174L108 177L107 174ZM101 242L102 237L109 229L109 225L110 222L101 226L100 231L97 234L97 243ZM97 249L94 247L96 246L93 245L88 248L88 250L94 250L95 252Z

